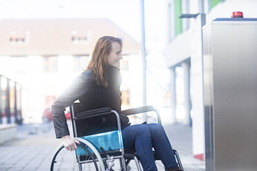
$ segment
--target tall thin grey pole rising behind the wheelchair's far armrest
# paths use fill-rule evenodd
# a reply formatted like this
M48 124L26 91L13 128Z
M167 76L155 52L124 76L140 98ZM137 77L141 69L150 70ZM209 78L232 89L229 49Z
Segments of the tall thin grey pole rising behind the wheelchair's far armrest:
M142 51L142 81L143 81L143 105L146 105L146 48L144 37L144 0L140 1L141 5L141 51ZM144 113L144 121L147 120L146 113Z

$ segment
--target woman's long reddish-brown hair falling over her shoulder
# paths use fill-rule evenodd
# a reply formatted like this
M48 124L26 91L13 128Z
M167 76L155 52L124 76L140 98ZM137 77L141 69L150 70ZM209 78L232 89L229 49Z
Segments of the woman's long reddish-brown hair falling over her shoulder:
M122 46L122 39L116 37L105 36L98 39L93 50L91 60L86 70L90 70L94 74L95 81L98 85L108 86L107 82L107 57L111 52L111 43L117 41Z

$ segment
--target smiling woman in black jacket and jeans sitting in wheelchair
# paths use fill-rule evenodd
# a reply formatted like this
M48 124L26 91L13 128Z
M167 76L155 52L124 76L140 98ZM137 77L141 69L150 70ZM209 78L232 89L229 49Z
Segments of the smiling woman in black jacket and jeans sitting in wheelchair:
M52 105L53 123L57 138L64 141L67 150L77 148L76 140L70 138L64 110L79 99L83 110L110 107L121 112L120 92L120 60L122 59L122 40L115 37L101 37L95 44L91 61L86 71L77 77L73 83L57 98ZM157 170L153 158L152 147L161 159L166 170L180 170L175 161L173 150L162 125L157 123L129 125L128 117L120 114L122 122L122 139L125 149L135 150L140 157L144 170ZM115 117L97 117L86 119L86 131L91 131L88 125L102 123L105 120L106 129L115 124ZM98 127L97 127L98 128ZM101 128L94 132L101 132Z

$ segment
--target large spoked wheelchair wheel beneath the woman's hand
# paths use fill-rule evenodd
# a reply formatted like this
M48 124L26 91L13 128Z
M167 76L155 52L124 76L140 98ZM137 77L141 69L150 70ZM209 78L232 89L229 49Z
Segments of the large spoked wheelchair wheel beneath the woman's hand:
M77 144L77 149L77 152L69 151L61 145L53 157L50 170L101 170L99 164L97 165L97 158L88 145Z

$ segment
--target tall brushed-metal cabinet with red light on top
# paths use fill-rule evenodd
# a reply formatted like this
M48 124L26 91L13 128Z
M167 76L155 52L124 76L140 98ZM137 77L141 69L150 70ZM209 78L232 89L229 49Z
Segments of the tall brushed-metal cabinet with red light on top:
M257 19L202 29L206 170L257 170Z

